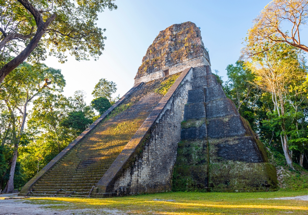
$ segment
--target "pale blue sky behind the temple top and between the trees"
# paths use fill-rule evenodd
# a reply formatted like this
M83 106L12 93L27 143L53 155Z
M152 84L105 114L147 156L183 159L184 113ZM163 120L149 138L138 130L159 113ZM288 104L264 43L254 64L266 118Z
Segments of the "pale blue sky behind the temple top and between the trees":
M252 20L269 2L116 0L117 10L106 9L99 14L97 25L106 28L104 35L107 37L99 60L78 62L68 57L65 64L60 64L56 58L48 57L45 63L62 69L67 81L63 92L65 96L84 90L89 104L93 99L91 92L100 78L115 82L118 85L116 95L123 96L133 86L142 57L158 33L170 25L191 21L201 28L202 40L209 49L212 71L219 70L226 80L227 65L237 61ZM307 32L307 29L304 30Z

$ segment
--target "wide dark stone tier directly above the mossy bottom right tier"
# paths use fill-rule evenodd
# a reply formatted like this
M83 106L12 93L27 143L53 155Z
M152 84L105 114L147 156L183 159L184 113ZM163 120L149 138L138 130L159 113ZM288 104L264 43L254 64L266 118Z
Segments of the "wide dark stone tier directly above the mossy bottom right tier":
M266 162L252 136L209 139L211 162L232 160L249 163Z

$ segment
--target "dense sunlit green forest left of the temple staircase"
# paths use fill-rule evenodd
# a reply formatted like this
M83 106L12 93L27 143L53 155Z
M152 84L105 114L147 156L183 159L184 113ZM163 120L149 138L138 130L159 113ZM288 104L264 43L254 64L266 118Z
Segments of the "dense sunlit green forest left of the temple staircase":
M61 94L64 86L60 70L27 63L14 69L0 85L3 192L21 188L97 119L92 105L84 101L85 93L79 90L67 98ZM106 98L96 100L105 102L95 103L100 114L111 106Z

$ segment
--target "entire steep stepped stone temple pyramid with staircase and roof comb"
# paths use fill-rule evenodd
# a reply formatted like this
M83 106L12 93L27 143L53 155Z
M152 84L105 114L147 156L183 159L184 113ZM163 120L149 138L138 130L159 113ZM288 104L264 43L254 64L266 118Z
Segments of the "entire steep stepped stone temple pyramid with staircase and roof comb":
M135 85L21 190L110 197L277 188L263 144L211 72L192 22L161 31Z

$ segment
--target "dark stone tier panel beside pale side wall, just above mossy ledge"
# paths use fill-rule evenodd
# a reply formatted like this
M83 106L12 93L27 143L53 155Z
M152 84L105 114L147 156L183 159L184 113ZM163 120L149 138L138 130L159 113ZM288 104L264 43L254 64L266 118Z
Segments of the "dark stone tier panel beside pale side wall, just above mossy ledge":
M184 108L184 120L205 118L205 103L198 102L186 104Z

